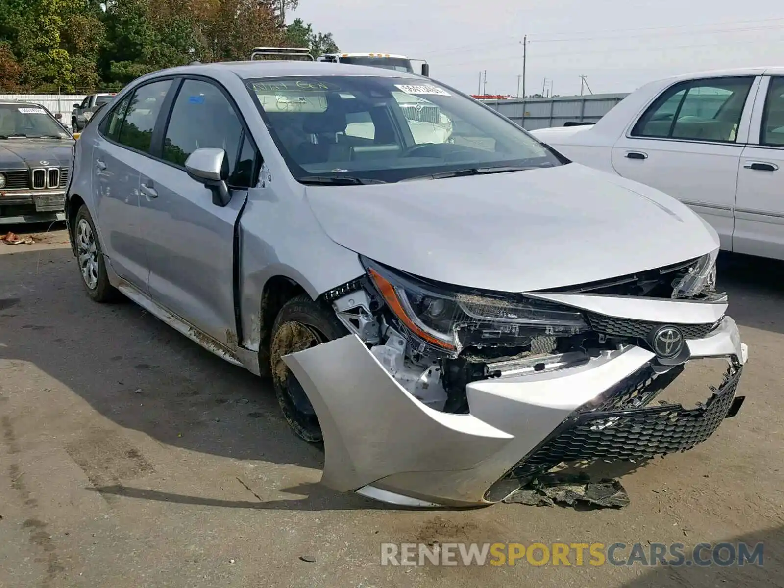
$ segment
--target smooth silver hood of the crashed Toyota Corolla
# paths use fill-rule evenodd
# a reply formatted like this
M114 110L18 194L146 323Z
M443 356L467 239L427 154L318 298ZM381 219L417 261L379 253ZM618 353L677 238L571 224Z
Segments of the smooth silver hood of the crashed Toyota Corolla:
M308 187L339 245L448 284L526 292L650 270L719 246L674 198L570 163L368 186Z

